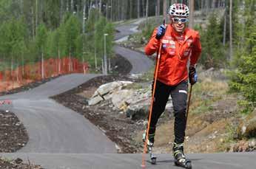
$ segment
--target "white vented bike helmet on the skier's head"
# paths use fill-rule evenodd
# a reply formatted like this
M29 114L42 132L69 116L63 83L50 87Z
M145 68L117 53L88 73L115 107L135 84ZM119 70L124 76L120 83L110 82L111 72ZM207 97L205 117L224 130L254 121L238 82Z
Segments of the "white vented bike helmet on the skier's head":
M189 17L189 7L186 4L172 4L169 7L169 15Z

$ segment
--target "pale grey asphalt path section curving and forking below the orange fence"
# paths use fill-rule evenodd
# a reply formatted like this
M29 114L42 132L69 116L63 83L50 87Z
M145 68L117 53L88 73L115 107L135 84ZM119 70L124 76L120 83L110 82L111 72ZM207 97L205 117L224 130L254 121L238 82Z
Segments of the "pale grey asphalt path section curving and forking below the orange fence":
M22 153L116 153L115 143L87 119L48 97L79 86L98 75L72 74L27 92L6 95L9 108L24 123L29 142Z

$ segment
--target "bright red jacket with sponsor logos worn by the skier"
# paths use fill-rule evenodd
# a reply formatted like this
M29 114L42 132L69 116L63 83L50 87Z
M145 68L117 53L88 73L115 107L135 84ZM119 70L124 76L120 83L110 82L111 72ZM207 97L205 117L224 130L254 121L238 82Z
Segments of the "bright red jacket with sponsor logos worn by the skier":
M169 24L165 35L158 40L155 38L158 29L152 34L149 43L146 44L146 55L158 52L162 41L161 60L158 69L158 80L169 86L175 86L183 80L188 79L187 63L190 58L190 65L197 63L201 55L201 42L199 33L186 28L183 32L184 41L178 42L178 36Z

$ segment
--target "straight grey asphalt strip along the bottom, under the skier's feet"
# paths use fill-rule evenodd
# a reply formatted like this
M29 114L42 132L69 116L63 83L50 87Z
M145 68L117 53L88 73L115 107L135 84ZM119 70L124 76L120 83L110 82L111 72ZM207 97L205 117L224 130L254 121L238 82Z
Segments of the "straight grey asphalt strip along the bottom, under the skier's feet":
M51 169L141 169L141 154L5 154L44 164ZM146 168L179 169L171 154L158 154L157 165ZM256 153L189 154L193 169L254 169ZM180 168L181 169L181 168Z

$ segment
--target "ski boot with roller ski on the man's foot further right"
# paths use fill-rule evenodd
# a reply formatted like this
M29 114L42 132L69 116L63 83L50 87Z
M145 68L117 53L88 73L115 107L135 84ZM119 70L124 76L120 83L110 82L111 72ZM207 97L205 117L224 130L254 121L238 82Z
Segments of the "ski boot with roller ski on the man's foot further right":
M187 169L192 169L192 164L189 159L186 159L186 156L183 153L183 143L181 144L176 144L175 142L173 143L173 157L175 159L175 165L187 168Z

